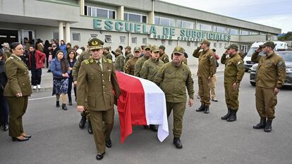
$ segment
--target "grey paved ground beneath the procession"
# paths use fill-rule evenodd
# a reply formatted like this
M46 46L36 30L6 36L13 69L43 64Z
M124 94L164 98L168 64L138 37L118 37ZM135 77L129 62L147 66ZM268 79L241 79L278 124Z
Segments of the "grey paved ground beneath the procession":
M47 74L49 77L50 74ZM51 91L34 92L30 97L28 111L23 118L25 131L32 139L13 142L8 132L0 132L1 164L40 163L292 163L292 92L282 89L276 106L273 130L253 130L259 122L255 110L255 87L249 84L249 73L245 73L240 92L240 111L236 122L220 120L226 113L223 88L223 72L219 71L217 95L219 102L212 103L210 113L197 113L200 106L187 108L183 121L181 141L183 149L172 144L172 118L169 119L169 137L162 143L157 134L133 127L124 144L120 142L118 113L115 115L111 134L113 147L107 149L104 159L95 160L96 149L92 135L80 130L80 115L73 106L68 111L55 107ZM43 80L44 80L43 78ZM49 84L50 81L43 81ZM44 86L44 85L43 85ZM195 79L195 91L197 80ZM197 92L196 92L197 93ZM290 106L290 107L289 107Z

